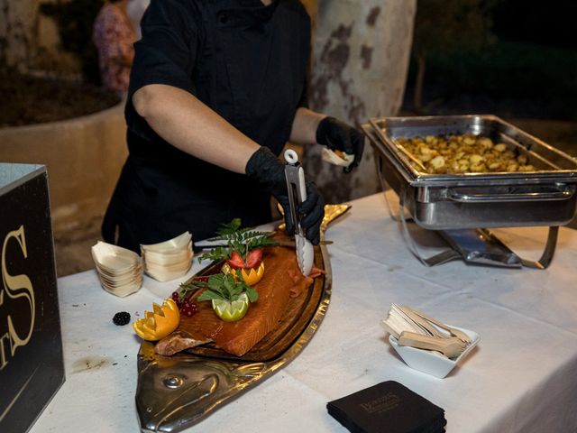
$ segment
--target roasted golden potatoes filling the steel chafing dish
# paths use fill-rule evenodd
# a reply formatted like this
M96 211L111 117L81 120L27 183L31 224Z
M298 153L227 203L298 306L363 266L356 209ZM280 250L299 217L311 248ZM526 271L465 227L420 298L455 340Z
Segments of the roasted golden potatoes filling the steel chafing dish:
M397 138L420 161L430 174L527 172L535 167L527 163L527 155L516 154L505 143L493 143L489 137L472 134L414 138ZM416 161L411 165L423 171Z

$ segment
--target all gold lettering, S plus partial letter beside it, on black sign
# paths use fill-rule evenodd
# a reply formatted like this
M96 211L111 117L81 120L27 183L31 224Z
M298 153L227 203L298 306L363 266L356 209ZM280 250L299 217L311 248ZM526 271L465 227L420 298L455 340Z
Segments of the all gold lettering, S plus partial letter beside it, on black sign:
M5 297L10 299L21 299L28 302L30 309L30 322L28 329L20 328L17 329L14 326L14 322L10 314L8 314L6 323L8 325L8 330L0 336L0 370L4 369L8 364L8 354L6 353L5 341L8 342L10 347L10 353L12 357L16 353L16 349L23 345L27 345L32 337L32 330L34 329L34 317L36 305L34 302L34 289L32 287L32 281L25 274L11 275L8 266L8 257L6 253L6 247L10 242L16 242L20 247L20 251L23 254L24 259L28 258L28 248L26 247L26 238L24 236L24 226L20 226L18 230L14 230L4 239L2 245L2 256L1 267L2 267L2 287L0 287L0 309L3 307ZM0 329L4 328L0 324ZM1 332L1 331L0 331Z

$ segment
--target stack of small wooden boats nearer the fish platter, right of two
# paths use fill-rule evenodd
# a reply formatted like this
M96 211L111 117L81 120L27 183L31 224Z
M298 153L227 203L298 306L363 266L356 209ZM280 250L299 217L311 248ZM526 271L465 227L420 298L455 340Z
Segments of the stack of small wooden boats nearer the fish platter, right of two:
M185 275L192 264L192 235L183 233L160 244L141 245L144 271L157 281Z

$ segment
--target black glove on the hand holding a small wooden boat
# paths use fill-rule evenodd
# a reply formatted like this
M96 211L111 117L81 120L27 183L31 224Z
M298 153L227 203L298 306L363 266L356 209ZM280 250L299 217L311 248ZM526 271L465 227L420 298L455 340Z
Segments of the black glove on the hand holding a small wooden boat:
M334 117L325 117L316 128L316 143L324 144L331 151L341 151L354 155L354 161L344 172L349 173L361 163L364 149L364 135L361 131Z

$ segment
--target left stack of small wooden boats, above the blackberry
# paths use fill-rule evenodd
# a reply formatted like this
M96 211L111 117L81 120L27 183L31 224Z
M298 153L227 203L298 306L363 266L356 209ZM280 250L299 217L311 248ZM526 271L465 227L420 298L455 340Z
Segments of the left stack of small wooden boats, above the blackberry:
M92 247L92 258L104 290L124 298L142 287L142 261L137 253L99 241Z

